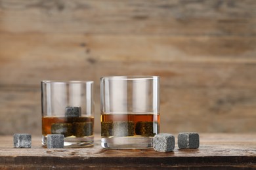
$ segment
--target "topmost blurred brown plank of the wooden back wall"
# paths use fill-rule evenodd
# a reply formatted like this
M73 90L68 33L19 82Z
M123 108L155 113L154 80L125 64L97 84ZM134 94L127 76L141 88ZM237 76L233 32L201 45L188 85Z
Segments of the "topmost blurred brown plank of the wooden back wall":
M253 0L1 1L0 31L255 35Z

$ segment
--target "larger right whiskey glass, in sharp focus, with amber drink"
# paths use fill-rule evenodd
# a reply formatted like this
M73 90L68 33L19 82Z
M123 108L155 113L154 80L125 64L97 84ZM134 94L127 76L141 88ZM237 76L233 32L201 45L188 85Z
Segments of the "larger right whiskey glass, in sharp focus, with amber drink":
M103 148L152 148L160 131L160 78L100 78Z

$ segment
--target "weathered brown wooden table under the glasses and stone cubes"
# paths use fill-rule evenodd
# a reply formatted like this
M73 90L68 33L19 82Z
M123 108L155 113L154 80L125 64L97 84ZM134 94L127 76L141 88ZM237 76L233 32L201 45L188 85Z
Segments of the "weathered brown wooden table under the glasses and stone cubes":
M175 135L177 140L177 135ZM176 141L177 143L177 141ZM96 135L90 148L48 149L32 136L32 148L13 148L12 136L0 137L0 169L256 169L256 133L200 133L200 148L161 153L106 150Z

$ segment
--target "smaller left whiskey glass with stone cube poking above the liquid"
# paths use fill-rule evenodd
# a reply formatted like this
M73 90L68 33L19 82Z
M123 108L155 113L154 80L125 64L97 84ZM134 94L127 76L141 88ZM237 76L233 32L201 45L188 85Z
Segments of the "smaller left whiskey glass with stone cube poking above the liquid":
M93 145L92 81L41 82L42 144L48 134L64 135L65 147Z

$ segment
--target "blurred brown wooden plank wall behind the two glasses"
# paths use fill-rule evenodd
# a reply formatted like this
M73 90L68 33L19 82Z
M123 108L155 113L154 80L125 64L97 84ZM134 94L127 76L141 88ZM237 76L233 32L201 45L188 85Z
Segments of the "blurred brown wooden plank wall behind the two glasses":
M0 0L0 135L41 134L41 80L161 77L161 131L256 132L255 0Z

